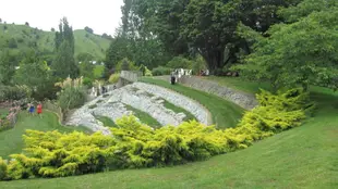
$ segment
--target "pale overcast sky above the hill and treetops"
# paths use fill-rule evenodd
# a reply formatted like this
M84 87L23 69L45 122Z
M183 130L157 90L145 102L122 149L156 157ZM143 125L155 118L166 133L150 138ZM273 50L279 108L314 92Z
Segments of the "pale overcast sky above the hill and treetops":
M67 16L73 29L89 26L95 34L113 35L121 23L123 0L0 0L0 17L7 23L50 30Z

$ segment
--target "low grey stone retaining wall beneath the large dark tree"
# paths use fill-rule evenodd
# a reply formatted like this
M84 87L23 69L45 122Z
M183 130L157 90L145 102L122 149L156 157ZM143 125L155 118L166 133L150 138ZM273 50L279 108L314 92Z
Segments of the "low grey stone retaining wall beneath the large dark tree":
M169 81L169 76L160 76L158 78ZM227 99L246 110L251 110L257 105L257 101L254 94L231 89L213 80L203 79L196 76L182 76L179 79L179 83L183 84L184 86Z

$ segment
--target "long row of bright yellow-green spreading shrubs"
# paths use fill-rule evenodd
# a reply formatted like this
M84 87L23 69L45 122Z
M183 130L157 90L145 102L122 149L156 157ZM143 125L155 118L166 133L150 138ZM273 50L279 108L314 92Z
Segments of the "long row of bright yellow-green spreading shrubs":
M14 160L8 164L0 159L0 179L63 177L206 160L300 126L311 104L307 94L298 89L277 94L262 91L257 99L259 105L246 112L237 127L226 130L195 121L154 130L134 116L119 119L111 128L112 136L26 130L25 153L11 155Z

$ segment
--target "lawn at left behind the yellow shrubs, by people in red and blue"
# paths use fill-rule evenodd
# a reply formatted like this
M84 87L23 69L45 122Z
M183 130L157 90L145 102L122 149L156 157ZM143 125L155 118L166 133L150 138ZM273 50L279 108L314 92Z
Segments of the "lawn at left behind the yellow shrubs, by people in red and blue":
M22 135L26 129L34 130L59 130L61 133L70 133L73 130L88 133L85 127L67 127L59 124L56 114L50 112L44 112L43 118L39 116L28 115L27 112L22 112L19 115L19 121L14 128L0 133L0 156L7 158L13 153L20 153L24 148ZM1 188L1 187L0 187Z

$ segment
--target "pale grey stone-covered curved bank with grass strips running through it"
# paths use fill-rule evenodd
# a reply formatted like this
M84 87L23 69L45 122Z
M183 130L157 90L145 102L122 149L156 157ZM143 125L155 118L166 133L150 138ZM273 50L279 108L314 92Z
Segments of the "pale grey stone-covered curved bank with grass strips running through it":
M186 115L183 112L174 112L167 109L164 104L165 100L191 112L198 122L212 125L210 113L198 102L172 90L143 83L134 83L109 91L106 96L97 97L81 109L77 109L65 124L70 126L86 126L93 131L100 130L105 135L110 135L109 128L105 127L97 119L97 116L106 116L116 122L123 115L133 113L125 106L128 104L149 114L162 126L180 125ZM142 117L138 118L142 121Z

